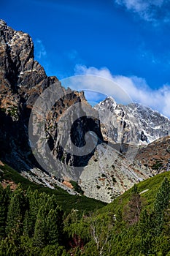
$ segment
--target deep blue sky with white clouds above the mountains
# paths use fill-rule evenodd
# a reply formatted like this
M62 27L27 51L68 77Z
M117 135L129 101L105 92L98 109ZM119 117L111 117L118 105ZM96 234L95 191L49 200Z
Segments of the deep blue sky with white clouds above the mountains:
M169 0L1 0L0 14L31 35L47 75L105 76L170 116Z

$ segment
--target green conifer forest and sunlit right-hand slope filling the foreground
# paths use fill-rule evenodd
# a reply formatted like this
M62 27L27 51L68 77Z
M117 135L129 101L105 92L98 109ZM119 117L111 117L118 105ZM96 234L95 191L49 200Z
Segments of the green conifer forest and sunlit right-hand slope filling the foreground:
M0 255L168 256L169 178L149 178L93 211L63 210L55 193L22 184L0 186Z

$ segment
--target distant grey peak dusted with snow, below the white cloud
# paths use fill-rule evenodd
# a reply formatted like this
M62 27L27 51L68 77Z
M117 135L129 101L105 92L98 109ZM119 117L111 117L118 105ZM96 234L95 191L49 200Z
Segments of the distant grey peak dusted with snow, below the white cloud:
M112 143L148 144L170 135L170 120L138 103L121 105L107 97L94 107L101 120L104 140Z

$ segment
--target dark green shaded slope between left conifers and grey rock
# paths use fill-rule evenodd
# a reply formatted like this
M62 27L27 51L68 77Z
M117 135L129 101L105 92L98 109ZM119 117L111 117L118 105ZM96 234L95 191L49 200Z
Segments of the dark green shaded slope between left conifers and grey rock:
M69 212L72 210L72 208L80 211L94 211L98 208L106 206L106 203L102 203L99 200L94 200L85 196L69 195L68 192L64 191L60 187L50 189L39 184L34 184L23 176L20 176L20 174L16 170L12 169L12 167L9 167L9 165L1 166L1 170L3 170L4 173L0 173L0 181L6 179L9 181L14 181L16 184L20 183L25 190L30 187L33 190L37 189L39 193L45 192L49 195L54 194L58 199L58 205L62 206L64 211Z

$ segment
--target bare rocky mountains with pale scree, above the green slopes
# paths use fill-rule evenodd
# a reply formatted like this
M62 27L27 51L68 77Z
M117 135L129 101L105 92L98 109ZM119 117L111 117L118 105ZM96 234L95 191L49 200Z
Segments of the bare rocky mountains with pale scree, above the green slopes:
M47 77L34 60L31 37L4 20L0 59L0 159L22 176L109 203L167 169L164 151L155 157L159 162L144 152L169 135L168 118L142 105L119 105L112 97L92 108L83 91Z

